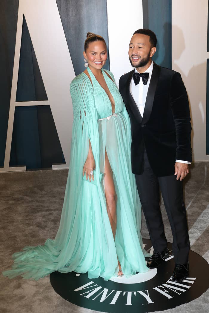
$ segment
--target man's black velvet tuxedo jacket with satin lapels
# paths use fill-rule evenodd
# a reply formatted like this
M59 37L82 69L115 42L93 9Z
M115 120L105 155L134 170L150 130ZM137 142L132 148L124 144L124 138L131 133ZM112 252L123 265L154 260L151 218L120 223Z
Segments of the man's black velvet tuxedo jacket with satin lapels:
M130 93L133 73L119 80L131 120L132 172L143 172L145 147L154 174L172 175L176 159L192 161L189 102L181 75L154 63L142 117Z

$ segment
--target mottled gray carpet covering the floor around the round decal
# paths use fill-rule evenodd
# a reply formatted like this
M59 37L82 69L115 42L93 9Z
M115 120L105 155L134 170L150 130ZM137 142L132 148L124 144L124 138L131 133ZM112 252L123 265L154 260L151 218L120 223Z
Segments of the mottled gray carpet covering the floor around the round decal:
M191 249L209 261L209 162L194 163L184 182L185 205ZM11 172L0 174L1 271L13 261L11 255L24 246L44 244L54 238L67 179L66 170ZM170 225L162 205L165 233L172 242ZM143 218L142 237L149 238ZM63 313L96 312L73 305L62 299L51 287L49 277L39 281L13 280L0 275L1 313ZM168 313L208 312L209 291L192 302Z

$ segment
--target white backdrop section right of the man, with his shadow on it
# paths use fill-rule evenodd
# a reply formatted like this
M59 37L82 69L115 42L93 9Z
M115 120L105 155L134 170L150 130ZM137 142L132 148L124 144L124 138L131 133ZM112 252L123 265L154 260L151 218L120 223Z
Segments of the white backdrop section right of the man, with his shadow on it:
M172 1L172 68L180 72L192 118L193 161L206 156L206 60L208 0Z

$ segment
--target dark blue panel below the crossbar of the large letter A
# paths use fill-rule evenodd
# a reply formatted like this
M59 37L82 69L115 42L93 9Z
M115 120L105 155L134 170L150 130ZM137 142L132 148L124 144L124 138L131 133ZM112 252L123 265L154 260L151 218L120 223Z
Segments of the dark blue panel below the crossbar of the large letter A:
M64 162L50 105L16 107L9 165L39 169Z

